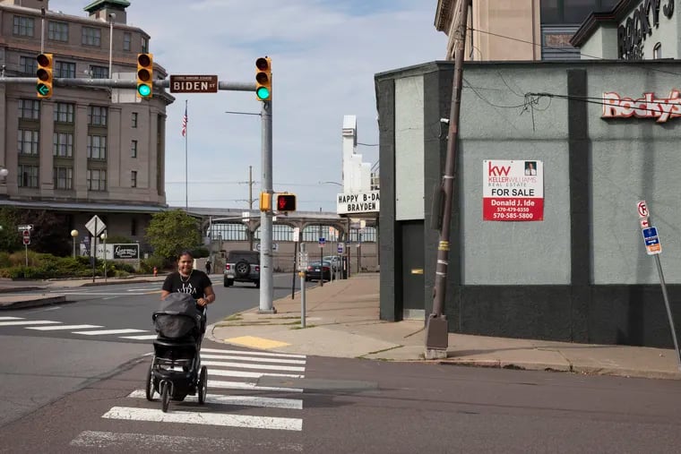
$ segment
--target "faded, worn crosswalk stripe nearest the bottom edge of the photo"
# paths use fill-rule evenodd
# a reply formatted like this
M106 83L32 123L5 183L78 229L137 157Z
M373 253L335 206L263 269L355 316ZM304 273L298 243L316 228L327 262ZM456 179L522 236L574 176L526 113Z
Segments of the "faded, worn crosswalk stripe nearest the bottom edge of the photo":
M286 441L243 441L228 438L185 437L181 435L154 435L149 433L115 433L83 431L71 441L71 446L89 448L89 452L112 450L116 452L303 452L300 443Z

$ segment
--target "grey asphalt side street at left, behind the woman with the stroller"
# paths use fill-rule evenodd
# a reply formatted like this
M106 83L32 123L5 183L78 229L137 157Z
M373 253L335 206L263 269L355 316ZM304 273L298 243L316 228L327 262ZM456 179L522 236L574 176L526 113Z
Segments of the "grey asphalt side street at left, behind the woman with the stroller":
M225 288L215 276L217 299L209 307L209 323L259 304L254 286ZM275 276L275 298L290 293L287 283L290 276ZM0 313L0 426L152 351L151 313L159 304L159 283L51 291L66 295L69 303Z

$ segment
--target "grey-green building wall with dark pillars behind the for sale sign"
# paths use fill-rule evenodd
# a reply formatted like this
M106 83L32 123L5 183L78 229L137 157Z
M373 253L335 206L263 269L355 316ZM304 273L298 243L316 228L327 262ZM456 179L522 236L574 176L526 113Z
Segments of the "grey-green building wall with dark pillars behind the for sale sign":
M425 313L432 306L437 232L432 188L446 154L453 64L376 75L381 133L381 316L399 320L401 270L398 177L400 109L423 83ZM662 236L672 312L681 316L681 224L675 169L681 124L669 119L602 118L604 91L666 98L676 62L466 64L445 313L455 332L576 342L669 347L671 334L654 261L645 253L636 202L648 201ZM526 93L556 95L525 97ZM567 97L567 99L565 98ZM586 102L587 100L591 102ZM435 127L434 125L438 125ZM413 131L409 131L409 137ZM416 150L416 149L415 149ZM420 157L412 157L416 162ZM544 163L544 218L482 220L485 159ZM415 169L410 169L416 173Z

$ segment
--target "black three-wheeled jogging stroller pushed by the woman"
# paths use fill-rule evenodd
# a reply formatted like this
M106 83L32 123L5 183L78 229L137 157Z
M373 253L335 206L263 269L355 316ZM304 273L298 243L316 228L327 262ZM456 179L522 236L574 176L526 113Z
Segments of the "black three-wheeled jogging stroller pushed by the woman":
M161 301L159 311L151 315L158 337L147 376L146 394L153 400L160 395L161 408L168 411L170 399L184 400L198 394L200 404L206 400L208 370L201 365L201 341L205 331L206 309L196 307L194 298L171 293Z

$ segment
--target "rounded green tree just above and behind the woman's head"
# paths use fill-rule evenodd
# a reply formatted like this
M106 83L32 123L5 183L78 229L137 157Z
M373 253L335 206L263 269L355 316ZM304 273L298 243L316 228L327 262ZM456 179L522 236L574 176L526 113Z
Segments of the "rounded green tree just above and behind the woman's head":
M196 219L183 210L170 210L151 216L146 239L154 248L154 254L172 259L185 249L192 249L201 242Z

